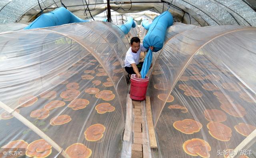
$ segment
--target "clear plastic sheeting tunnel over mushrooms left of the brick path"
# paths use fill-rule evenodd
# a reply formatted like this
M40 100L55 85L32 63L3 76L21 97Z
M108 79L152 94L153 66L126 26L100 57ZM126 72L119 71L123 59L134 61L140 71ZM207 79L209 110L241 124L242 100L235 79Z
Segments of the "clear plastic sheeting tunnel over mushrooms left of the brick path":
M19 140L30 156L66 157L79 148L95 158L120 157L124 38L100 21L0 34L0 146Z

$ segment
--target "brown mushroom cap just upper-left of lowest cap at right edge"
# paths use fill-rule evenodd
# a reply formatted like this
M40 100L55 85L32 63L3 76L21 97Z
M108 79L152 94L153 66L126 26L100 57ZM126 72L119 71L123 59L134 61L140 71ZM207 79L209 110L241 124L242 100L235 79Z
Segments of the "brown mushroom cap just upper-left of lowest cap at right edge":
M220 105L220 108L234 117L243 117L246 114L244 107L242 107L240 104L226 103Z

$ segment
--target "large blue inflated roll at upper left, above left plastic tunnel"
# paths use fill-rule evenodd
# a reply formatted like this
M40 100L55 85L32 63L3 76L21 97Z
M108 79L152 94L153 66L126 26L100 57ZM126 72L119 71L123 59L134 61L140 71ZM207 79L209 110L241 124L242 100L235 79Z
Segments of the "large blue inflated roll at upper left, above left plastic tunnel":
M67 23L80 23L87 21L88 20L82 20L78 18L66 8L60 7L57 8L56 10L53 10L52 12L42 14L24 29L58 26Z

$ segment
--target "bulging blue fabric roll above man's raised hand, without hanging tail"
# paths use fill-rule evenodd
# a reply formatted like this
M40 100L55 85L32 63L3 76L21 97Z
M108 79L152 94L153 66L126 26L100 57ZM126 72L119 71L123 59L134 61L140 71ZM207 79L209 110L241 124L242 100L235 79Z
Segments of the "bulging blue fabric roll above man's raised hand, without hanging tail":
M154 18L150 24L148 33L143 39L143 46L148 49L150 46L154 47L154 52L162 49L167 27L173 23L172 14L166 11Z

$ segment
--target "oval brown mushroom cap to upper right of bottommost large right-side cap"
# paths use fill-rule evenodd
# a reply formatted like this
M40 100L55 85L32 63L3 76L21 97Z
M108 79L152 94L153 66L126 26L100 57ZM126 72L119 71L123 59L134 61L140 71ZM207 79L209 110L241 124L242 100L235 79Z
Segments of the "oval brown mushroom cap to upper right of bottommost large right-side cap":
M209 122L207 128L210 135L220 141L229 141L232 136L232 130L219 122Z

